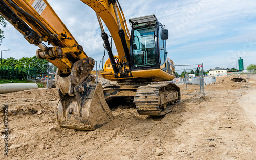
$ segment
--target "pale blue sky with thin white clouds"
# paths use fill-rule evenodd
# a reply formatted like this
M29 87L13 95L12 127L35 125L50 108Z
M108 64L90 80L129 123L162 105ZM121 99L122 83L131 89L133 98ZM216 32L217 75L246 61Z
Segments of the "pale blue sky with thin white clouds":
M48 2L86 54L99 64L104 47L93 9L79 0ZM166 26L168 57L175 65L203 63L205 70L238 68L239 57L244 68L256 64L256 1L119 0L119 3L126 20L155 14ZM10 49L2 52L2 58L36 55L38 47L29 44L11 24L0 28L5 36L0 50ZM113 52L117 54L114 47Z

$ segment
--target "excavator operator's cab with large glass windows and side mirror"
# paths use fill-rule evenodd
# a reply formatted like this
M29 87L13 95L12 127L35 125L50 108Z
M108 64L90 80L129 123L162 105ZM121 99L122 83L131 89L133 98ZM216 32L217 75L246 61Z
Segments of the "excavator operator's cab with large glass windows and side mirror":
M136 78L150 78L151 81L174 79L172 62L167 57L166 39L168 30L155 15L129 19L132 26L130 57L132 75ZM159 72L152 74L152 70Z

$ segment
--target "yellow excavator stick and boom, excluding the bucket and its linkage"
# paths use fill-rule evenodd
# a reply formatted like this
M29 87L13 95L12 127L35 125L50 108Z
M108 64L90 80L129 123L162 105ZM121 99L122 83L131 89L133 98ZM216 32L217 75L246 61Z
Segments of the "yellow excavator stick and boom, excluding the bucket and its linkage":
M97 0L82 0L82 2L101 17L108 26L118 54L120 57L125 56L118 31L123 29L127 46L130 44L130 35L127 32L122 10L118 8L117 3ZM71 72L76 61L88 57L46 0L1 0L0 5L1 14L23 34L29 43L40 47L37 51L38 58L47 59L64 74ZM116 14L113 6L116 8ZM42 41L54 47L47 48Z

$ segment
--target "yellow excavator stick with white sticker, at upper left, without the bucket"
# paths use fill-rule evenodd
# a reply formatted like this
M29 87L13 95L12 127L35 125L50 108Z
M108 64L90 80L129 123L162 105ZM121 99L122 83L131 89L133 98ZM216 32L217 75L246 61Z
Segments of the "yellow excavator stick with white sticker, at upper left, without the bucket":
M1 13L29 43L40 47L38 58L63 73L69 74L77 60L88 57L47 1L1 1Z

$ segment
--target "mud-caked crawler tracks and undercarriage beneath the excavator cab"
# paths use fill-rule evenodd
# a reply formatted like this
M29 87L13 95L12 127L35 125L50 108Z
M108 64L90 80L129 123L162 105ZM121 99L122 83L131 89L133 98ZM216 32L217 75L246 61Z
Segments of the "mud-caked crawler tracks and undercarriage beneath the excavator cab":
M103 89L105 99L134 97L140 115L163 116L170 106L180 101L180 88L173 83L130 84Z

